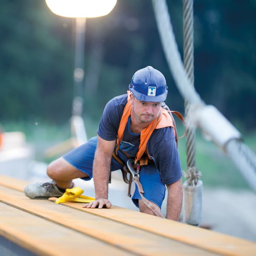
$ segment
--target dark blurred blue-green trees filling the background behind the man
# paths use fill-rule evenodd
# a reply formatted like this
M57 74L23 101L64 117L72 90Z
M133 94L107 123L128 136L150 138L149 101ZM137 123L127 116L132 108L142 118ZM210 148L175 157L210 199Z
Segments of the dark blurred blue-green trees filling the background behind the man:
M182 54L182 1L168 1ZM256 126L256 1L195 0L195 87L245 131ZM84 116L99 122L105 104L128 88L134 72L151 65L166 77L171 109L183 113L149 0L118 0L113 11L87 19ZM2 0L0 122L49 122L71 116L74 20L45 1ZM95 68L96 67L96 68Z

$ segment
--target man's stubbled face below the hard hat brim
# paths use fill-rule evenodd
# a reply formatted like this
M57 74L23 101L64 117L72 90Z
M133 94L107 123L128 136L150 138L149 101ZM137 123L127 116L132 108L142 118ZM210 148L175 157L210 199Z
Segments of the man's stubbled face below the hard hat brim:
M143 102L131 93L130 102L138 122L151 122L159 113L162 102Z

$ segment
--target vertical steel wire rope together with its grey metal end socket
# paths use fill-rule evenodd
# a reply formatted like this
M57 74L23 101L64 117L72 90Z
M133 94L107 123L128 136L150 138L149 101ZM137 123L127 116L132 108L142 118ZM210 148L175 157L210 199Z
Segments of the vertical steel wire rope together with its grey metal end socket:
M183 0L183 60L189 81L194 87L193 0ZM185 116L189 114L185 99ZM186 127L187 181L184 183L184 222L198 226L202 220L202 181L195 164L195 128Z

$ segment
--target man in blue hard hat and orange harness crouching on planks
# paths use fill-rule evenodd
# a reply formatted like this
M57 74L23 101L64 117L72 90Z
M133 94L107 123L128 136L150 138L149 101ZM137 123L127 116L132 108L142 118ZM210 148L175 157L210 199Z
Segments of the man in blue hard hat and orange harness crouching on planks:
M172 118L161 108L166 96L166 80L160 71L150 66L138 70L128 94L106 105L98 136L52 162L47 168L52 182L30 184L25 194L29 198L61 196L65 189L73 187L73 179L93 177L96 200L84 207L110 208L109 174L123 167L115 158L126 163L135 157L138 164L144 158L148 161L140 166L144 197L160 210L167 187L166 218L177 221L182 206L182 172ZM143 203L137 186L132 201L140 212L154 215Z

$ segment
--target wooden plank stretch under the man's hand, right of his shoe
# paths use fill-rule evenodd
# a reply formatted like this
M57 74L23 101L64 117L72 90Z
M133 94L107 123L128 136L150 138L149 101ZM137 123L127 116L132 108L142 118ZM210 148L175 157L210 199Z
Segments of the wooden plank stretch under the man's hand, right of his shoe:
M55 201L53 198L50 200ZM112 206L111 209L87 209L80 203L61 203L67 207L108 218L170 239L191 244L223 255L256 255L256 243L212 230L170 221L133 210Z

